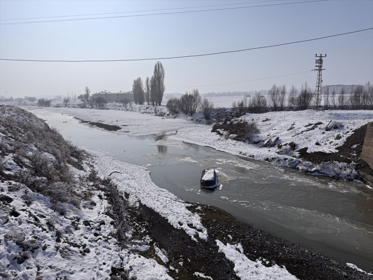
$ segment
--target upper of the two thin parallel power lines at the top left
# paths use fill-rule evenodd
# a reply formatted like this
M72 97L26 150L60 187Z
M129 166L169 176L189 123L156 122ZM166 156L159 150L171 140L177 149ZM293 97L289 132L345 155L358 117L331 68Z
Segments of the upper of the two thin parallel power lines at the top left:
M234 3L234 4L221 4L221 5L210 5L210 6L194 6L194 7L168 8L168 9L156 9L156 10L142 10L142 11L127 11L127 12L115 12L115 13L82 14L82 15L53 16L53 17L38 17L38 18L21 18L21 19L5 19L5 20L0 20L0 21L39 20L39 19L52 19L52 18L69 18L69 17L86 17L86 16L101 16L101 15L129 14L129 13L158 12L158 11L170 11L170 10L183 10L183 9L196 9L196 8L221 7L221 6L233 6L233 5L255 4L255 3L262 3L262 2L278 2L278 1L286 1L286 0L265 0L265 1L258 1L258 2L243 2L243 3Z

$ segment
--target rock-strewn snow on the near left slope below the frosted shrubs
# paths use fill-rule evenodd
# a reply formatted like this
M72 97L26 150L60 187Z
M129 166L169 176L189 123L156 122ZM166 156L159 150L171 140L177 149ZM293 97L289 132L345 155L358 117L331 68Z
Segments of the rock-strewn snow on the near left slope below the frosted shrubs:
M67 215L60 216L50 209L47 198L25 186L8 191L10 185L4 182L0 183L1 188L13 199L12 209L20 214L13 217L8 211L0 210L0 238L3 240L0 272L4 279L35 279L37 276L43 279L64 276L82 280L110 279L112 266L123 267L130 271L130 277L137 279L172 279L167 269L154 259L117 245L117 240L111 237L111 232L115 231L110 224L112 219L104 214L106 200L94 196L92 201L96 206L89 204L89 208L70 209ZM33 199L30 206L26 206L22 198L26 193ZM92 222L85 226L83 221ZM48 223L61 233L62 242L56 242L56 231L48 230ZM23 247L34 248L35 253ZM22 263L18 263L20 256L25 257Z

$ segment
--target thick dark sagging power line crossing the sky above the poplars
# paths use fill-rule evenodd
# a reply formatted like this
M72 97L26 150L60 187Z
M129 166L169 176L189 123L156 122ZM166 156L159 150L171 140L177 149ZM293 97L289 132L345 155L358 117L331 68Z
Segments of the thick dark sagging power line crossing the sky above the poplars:
M142 61L142 60L176 59L176 58L209 56L209 55L217 55L217 54L225 54L225 53L251 51L251 50L257 50L257 49L273 48L273 47L286 46L286 45L297 44L297 43L316 41L316 40L321 40L321 39L326 39L326 38L331 38L331 37L336 37L336 36L341 36L341 35L347 35L347 34L362 32L362 31L366 31L366 30L371 30L371 29L373 29L373 27L372 28L367 28L367 29L362 29L362 30L357 30L357 31L351 31L351 32L345 32L345 33L340 33L340 34L335 34L335 35L330 35L330 36L319 37L319 38L295 41L295 42L290 42L290 43L276 44L276 45L270 45L270 46L262 46L262 47L255 47L255 48L248 48L248 49L241 49L241 50L233 50L233 51L195 54L195 55L182 55L182 56L157 57L157 58L136 58L136 59L108 59L108 60L40 60L40 59L10 59L10 58L0 58L0 60L32 61L32 62L114 62L114 61Z

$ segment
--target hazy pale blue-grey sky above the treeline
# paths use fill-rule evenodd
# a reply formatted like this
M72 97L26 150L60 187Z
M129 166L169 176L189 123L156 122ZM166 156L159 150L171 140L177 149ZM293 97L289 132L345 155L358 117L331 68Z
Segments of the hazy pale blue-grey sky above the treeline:
M373 27L373 1L5 1L0 0L0 58L109 60L247 49ZM305 1L305 0L304 0ZM308 1L308 0L306 0ZM291 5L278 5L292 3ZM276 5L256 8L177 13ZM193 9L176 9L212 6ZM175 10L165 10L175 9ZM145 10L151 12L123 13ZM86 14L121 13L81 16ZM137 16L146 14L163 14ZM75 17L59 17L74 16ZM133 16L136 17L122 17ZM117 17L96 20L69 19ZM46 18L57 17L57 18ZM43 19L25 19L43 18ZM50 21L14 24L14 22ZM323 85L373 81L373 30L293 45L160 60L166 92L267 89L316 84L315 54L325 54ZM153 73L156 60L24 62L0 60L0 96L128 91ZM278 77L281 76L281 77Z

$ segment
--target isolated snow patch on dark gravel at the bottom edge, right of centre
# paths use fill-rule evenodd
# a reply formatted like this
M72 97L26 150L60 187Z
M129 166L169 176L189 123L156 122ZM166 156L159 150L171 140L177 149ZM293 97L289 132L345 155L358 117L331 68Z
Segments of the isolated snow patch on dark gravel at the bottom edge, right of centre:
M279 267L277 264L266 267L260 260L252 261L243 253L241 244L224 245L221 241L216 240L219 252L225 254L227 259L234 263L234 272L241 280L296 280L296 276L289 273L285 267Z

